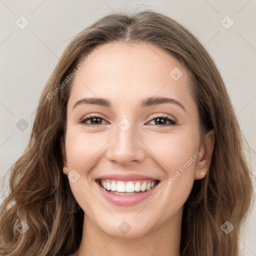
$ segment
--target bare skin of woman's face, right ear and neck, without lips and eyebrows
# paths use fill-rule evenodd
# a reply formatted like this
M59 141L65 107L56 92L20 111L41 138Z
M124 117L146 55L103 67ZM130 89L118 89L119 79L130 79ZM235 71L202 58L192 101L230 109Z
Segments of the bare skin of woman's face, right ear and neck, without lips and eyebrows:
M95 57L74 77L62 144L63 172L75 169L80 175L74 183L69 180L84 211L78 255L178 256L183 204L194 179L203 178L200 173L209 168L213 131L200 143L188 72L163 49L144 42L111 42L97 49ZM174 67L182 71L178 80L169 75ZM141 108L140 101L149 96L176 99L185 110L174 103ZM83 97L106 98L111 108L92 104L73 108ZM99 126L79 123L90 113L102 118ZM153 118L162 114L176 124L167 125L170 122L166 121L160 127ZM125 132L118 127L124 117L131 123ZM87 124L95 122L90 119ZM94 181L103 174L138 173L160 180L160 188L197 151L200 156L153 202L145 199L133 206L113 205ZM125 234L118 228L123 221L131 227Z

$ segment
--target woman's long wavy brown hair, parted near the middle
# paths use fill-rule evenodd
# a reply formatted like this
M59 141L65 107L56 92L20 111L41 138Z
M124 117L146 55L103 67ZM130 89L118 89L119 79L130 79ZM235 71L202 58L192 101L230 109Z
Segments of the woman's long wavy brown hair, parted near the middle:
M62 172L60 143L72 79L63 81L96 46L112 41L152 43L189 71L201 133L213 129L215 142L209 171L194 181L184 205L180 253L237 256L252 184L233 107L200 42L182 25L154 11L108 14L81 31L64 50L41 94L28 145L10 167L10 193L0 208L0 254L62 256L79 247L83 211ZM15 228L20 221L29 226L23 234ZM229 234L221 229L225 221L234 226Z

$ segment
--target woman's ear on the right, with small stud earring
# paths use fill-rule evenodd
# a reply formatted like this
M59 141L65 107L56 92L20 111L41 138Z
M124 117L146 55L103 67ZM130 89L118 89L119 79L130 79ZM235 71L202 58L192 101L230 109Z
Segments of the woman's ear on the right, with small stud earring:
M210 130L205 136L200 145L200 155L197 161L194 179L203 178L210 167L211 155L214 146L214 131Z

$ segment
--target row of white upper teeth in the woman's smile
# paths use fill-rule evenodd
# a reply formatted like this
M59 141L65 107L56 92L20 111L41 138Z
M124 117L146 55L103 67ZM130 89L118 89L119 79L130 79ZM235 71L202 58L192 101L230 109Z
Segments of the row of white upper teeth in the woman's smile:
M151 187L155 185L155 180L140 180L140 181L118 181L118 180L110 180L110 179L102 179L101 185L106 190L117 191L117 192L138 192L145 190L149 190Z

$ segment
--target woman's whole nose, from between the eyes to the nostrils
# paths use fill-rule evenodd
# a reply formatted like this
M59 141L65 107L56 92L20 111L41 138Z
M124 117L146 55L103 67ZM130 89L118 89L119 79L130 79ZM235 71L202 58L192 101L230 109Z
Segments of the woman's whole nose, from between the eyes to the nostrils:
M107 150L107 158L120 164L141 161L145 152L143 144L134 133L137 133L136 125L123 118L116 126L115 136Z

